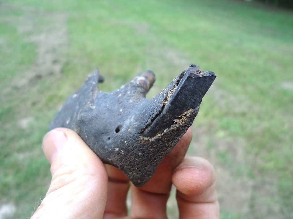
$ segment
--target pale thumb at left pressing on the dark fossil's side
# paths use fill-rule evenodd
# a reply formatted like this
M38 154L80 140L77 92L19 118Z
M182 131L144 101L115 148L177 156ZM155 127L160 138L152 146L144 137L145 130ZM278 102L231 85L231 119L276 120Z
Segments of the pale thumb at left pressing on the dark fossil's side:
M102 218L108 175L103 162L76 132L57 128L43 140L52 181L32 218Z

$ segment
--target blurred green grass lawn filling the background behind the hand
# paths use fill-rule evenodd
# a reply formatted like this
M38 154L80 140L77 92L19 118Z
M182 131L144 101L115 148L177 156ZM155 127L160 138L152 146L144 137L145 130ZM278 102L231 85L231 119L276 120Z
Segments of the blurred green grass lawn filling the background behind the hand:
M13 201L17 218L29 217L49 184L49 164L40 146L50 120L94 68L105 76L103 91L116 89L146 69L154 71L157 82L151 97L190 63L217 74L194 127L209 127L207 135L213 140L241 139L256 163L237 166L229 150L217 152L218 159L254 180L274 176L280 218L292 217L291 12L219 0L1 3L0 204ZM57 76L47 74L18 86L39 55L36 43L27 40L36 32L21 32L17 26L33 10L41 12L31 14L37 17L37 27L50 25L42 13L67 16L67 47L61 51L66 61ZM24 119L25 128L19 125ZM209 147L216 146L211 141ZM258 217L251 212L222 209L221 214Z

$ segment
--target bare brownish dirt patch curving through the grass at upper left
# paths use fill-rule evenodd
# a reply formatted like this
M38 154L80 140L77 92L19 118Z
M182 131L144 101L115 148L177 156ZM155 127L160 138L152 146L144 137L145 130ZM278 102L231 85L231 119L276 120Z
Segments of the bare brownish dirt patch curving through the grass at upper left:
M11 87L32 87L40 79L50 75L58 76L66 59L62 53L68 47L67 16L64 13L46 12L29 7L1 4L1 10L21 10L23 15L1 17L15 26L24 41L37 45L37 59L32 67L19 72L11 82Z

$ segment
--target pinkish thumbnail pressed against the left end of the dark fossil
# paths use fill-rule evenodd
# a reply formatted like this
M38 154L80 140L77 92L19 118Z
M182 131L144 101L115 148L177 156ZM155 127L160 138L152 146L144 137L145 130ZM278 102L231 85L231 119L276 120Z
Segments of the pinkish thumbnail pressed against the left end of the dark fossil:
M50 164L53 163L58 152L64 148L67 142L67 136L64 132L60 130L52 130L47 133L43 140L43 151L45 156L49 160Z

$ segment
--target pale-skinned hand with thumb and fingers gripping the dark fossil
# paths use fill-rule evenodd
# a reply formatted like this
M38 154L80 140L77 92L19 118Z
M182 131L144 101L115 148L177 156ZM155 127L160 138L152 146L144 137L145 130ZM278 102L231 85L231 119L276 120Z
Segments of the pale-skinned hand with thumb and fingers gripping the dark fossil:
M180 219L219 218L213 166L200 157L185 157L189 129L141 188L125 174L105 165L76 132L57 128L44 137L43 150L51 164L52 181L36 218L164 219L171 185L176 187ZM131 188L127 216L126 195Z

